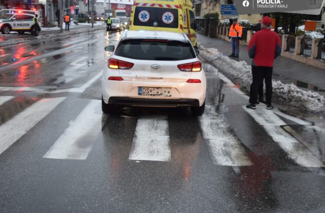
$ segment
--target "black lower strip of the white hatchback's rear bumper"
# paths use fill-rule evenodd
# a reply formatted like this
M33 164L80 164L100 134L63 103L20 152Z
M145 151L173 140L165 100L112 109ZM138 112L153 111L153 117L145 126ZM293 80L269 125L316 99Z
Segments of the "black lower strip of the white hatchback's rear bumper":
M123 104L142 107L199 107L198 99L180 98L180 99L148 99L148 98L130 98L130 97L110 97L109 104Z

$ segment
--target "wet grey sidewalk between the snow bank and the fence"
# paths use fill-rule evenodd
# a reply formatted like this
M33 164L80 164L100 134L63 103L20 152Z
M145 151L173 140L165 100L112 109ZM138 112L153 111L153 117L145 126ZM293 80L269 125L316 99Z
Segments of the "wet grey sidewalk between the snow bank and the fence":
M223 55L231 54L231 43L217 38L210 38L203 34L197 34L198 42L206 48L216 48ZM251 64L248 57L247 46L240 46L238 61ZM273 81L281 81L284 84L295 84L303 90L312 90L325 96L325 70L307 64L279 56L275 59L273 69Z

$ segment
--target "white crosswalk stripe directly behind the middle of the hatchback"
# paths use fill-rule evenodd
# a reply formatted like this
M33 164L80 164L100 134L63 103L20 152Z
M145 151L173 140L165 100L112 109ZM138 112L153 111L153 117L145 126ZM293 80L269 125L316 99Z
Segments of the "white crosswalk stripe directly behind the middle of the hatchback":
M167 116L139 118L129 160L170 161Z

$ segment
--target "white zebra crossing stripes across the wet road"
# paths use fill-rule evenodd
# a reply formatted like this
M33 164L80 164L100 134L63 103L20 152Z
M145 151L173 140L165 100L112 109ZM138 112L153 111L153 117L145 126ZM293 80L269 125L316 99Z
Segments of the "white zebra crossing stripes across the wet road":
M0 125L0 155L65 99L66 97L40 99L2 123ZM0 96L0 106L8 101L14 101L14 97ZM317 158L308 147L306 148L299 140L281 128L286 123L276 115L276 113L281 114L280 112L267 111L262 108L256 111L243 109L265 129L288 158L304 167L325 167L319 156ZM101 101L89 100L86 107L70 122L69 127L61 133L56 141L53 141L43 158L86 160L101 134L102 116ZM285 115L281 114L281 116ZM286 118L290 117L286 116ZM205 114L197 119L213 164L221 166L253 165L247 154L249 149L235 134L223 114L218 114L212 105L206 105ZM299 122L299 119L295 119ZM302 121L302 123L304 122ZM164 115L137 118L127 160L173 161L169 125L168 117Z

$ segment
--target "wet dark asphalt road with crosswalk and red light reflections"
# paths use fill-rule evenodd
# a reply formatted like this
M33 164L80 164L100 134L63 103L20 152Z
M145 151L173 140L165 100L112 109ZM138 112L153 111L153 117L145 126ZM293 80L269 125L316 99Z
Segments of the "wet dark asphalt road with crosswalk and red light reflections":
M104 47L119 37L1 49L0 212L325 211L323 126L245 110L247 96L208 64L202 117L102 114Z

